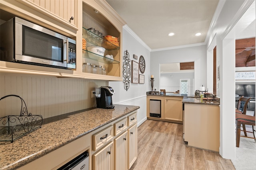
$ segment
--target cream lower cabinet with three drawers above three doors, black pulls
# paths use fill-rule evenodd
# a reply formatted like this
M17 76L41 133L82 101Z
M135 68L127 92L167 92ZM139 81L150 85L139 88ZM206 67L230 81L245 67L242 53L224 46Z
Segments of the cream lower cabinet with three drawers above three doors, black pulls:
M134 111L127 117L122 117L112 125L106 125L101 131L94 133L92 135L92 170L130 169L138 155L137 129L137 111Z

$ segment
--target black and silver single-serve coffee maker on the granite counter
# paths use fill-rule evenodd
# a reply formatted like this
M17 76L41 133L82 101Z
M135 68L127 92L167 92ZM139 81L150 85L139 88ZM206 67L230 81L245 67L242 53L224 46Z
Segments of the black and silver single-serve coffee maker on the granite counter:
M96 89L96 103L98 108L102 109L114 109L112 105L112 95L115 94L115 91L110 86L101 86Z

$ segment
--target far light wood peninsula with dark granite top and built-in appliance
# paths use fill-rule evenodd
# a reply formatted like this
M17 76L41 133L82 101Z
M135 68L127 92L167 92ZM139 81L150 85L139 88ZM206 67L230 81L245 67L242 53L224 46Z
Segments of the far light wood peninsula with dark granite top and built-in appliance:
M150 108L150 104L160 109ZM184 141L188 146L217 152L220 146L219 105L219 98L202 100L194 95L147 92L148 119L183 123Z

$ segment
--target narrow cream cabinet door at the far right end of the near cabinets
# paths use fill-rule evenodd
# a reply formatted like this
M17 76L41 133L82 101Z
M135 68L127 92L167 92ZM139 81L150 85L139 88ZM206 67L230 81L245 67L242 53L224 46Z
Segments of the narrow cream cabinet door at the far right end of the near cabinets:
M137 159L138 146L137 146L137 123L128 129L128 169Z

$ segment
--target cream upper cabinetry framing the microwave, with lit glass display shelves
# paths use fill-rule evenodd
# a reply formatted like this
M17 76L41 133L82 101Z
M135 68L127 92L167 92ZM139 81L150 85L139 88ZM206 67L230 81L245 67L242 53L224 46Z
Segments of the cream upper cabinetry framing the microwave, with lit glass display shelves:
M75 10L70 15L76 16L75 23L68 26L47 10L39 10L37 4L28 2L1 1L1 20L18 16L76 40L76 68L0 61L0 72L122 81L122 27L126 23L105 0L74 0ZM1 16L6 16L6 20Z

